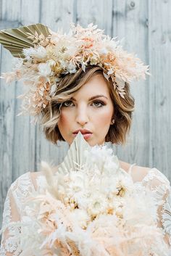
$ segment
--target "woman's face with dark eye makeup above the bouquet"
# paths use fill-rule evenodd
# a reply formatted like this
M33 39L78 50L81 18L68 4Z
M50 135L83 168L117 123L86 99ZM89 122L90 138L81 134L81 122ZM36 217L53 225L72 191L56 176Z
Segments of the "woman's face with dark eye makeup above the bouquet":
M112 125L114 107L103 75L94 75L70 100L62 103L58 127L64 141L72 144L78 131L87 129L84 139L94 146L103 144ZM76 133L75 133L76 132Z

